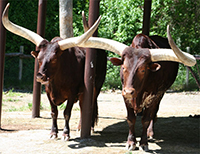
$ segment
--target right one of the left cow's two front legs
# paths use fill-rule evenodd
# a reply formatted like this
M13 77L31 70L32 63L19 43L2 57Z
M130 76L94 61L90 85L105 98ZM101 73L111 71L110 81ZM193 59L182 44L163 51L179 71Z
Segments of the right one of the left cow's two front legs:
M69 120L70 120L70 117L71 117L71 110L72 110L73 104L74 104L74 101L68 100L67 106L66 106L64 113L63 113L64 119L65 119L65 127L64 127L64 130L63 130L63 138L62 139L64 141L69 141L69 139L70 139Z

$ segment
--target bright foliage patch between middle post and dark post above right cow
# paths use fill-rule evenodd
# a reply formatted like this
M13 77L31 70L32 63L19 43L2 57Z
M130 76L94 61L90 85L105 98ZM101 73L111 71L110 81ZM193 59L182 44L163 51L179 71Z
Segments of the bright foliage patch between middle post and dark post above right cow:
M142 6L140 0L101 1L99 36L130 45L133 36L142 29Z

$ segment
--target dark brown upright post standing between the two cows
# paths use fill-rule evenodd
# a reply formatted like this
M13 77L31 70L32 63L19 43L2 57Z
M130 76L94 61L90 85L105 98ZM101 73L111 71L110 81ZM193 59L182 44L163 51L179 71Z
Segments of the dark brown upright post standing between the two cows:
M89 27L91 27L99 16L99 2L100 0L90 0L89 4ZM93 36L97 36L97 31ZM93 105L93 88L94 88L94 72L96 63L95 49L86 50L85 60L85 75L84 75L84 96L82 104L81 116L81 138L88 138L91 136L91 119L92 119L92 105Z

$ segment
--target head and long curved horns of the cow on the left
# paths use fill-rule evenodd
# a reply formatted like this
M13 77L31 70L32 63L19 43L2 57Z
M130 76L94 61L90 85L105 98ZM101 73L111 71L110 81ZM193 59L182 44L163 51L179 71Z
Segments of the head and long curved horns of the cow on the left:
M39 71L37 73L37 81L41 82L42 84L47 84L48 81L53 79L56 69L58 68L57 61L59 56L65 51L66 49L78 46L83 44L92 34L96 31L101 17L95 22L95 24L87 30L83 35L79 37L73 37L62 40L59 37L55 37L51 40L51 42L47 41L40 35L32 32L26 28L21 26L15 25L14 23L10 22L8 19L8 9L9 4L7 4L3 15L2 15L2 23L5 28L11 31L14 34L17 34L27 40L33 42L36 46L38 51L32 51L31 54L37 58L39 62Z

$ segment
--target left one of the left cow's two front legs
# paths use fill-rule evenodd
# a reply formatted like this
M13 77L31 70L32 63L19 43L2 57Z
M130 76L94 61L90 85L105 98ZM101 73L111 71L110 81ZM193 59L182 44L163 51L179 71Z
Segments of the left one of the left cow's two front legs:
M51 117L52 117L52 127L50 138L55 139L58 137L58 125L57 125L57 118L58 118L58 109L53 103L51 103Z

